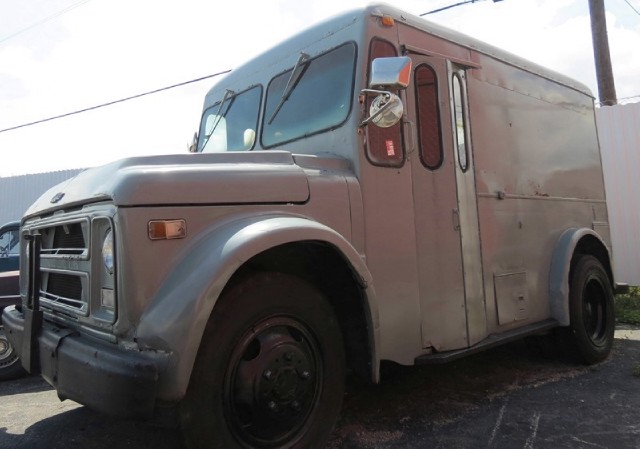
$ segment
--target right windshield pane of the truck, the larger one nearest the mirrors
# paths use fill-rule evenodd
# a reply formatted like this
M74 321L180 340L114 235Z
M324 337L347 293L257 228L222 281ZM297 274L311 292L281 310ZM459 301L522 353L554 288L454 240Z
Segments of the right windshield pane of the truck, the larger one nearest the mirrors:
M297 64L299 73L294 76L292 68L273 78L267 88L262 146L273 147L344 122L351 110L355 54L355 44L347 43ZM292 79L294 85L287 88Z

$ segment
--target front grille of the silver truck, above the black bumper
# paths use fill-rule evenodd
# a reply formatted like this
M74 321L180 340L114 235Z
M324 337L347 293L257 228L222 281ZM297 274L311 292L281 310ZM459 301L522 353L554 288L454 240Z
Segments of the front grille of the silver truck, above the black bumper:
M105 236L114 232L115 211L108 205L88 206L28 220L22 226L29 241L24 245L27 257L20 272L22 295L30 294L28 284L33 277L28 272L32 265L29 252L39 241L39 302L46 319L91 328L92 332L96 326L104 330L105 325L116 321L117 275L107 270L102 260ZM39 238L28 239L27 235ZM111 295L106 302L104 295ZM32 302L27 298L27 306Z

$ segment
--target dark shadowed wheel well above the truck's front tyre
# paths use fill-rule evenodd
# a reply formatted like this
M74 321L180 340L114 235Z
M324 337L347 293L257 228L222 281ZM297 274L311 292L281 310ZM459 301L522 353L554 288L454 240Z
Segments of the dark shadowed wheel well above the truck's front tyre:
M227 287L256 271L291 274L319 288L340 324L348 371L366 381L372 380L373 348L368 306L350 264L338 250L316 241L277 246L245 262Z

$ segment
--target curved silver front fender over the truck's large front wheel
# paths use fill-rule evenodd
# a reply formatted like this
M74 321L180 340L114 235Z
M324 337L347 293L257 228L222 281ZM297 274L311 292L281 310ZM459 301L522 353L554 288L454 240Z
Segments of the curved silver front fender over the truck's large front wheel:
M377 340L378 307L370 288L371 273L342 235L301 217L261 216L234 221L194 242L192 250L176 264L140 318L138 344L172 353L174 363L160 382L162 399L176 401L184 396L205 325L233 274L255 255L299 241L326 242L342 253L366 289Z

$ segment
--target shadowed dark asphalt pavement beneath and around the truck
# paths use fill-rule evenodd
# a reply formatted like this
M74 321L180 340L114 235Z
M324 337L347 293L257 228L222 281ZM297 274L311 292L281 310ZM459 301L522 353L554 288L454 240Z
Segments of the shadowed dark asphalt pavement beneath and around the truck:
M532 349L531 346L534 346ZM516 342L447 365L395 367L350 382L330 449L640 448L640 332L586 367ZM174 449L159 421L60 402L37 377L0 383L1 449Z

